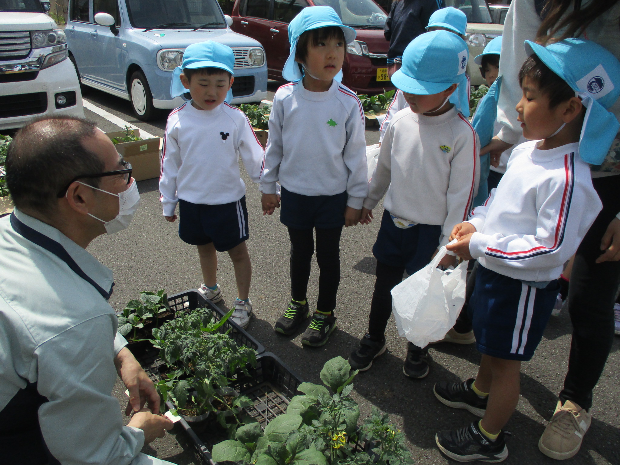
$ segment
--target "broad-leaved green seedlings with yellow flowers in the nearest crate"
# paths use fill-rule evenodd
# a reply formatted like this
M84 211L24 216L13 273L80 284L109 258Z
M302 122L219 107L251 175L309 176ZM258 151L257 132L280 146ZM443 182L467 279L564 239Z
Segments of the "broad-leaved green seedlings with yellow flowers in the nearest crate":
M213 446L213 459L244 465L412 463L402 433L387 423L387 415L373 410L358 433L360 410L350 397L356 374L342 357L327 361L321 371L324 386L300 384L304 394L291 399L285 415L268 423L264 432L257 423L240 427L234 440ZM356 448L358 439L372 445L370 451Z

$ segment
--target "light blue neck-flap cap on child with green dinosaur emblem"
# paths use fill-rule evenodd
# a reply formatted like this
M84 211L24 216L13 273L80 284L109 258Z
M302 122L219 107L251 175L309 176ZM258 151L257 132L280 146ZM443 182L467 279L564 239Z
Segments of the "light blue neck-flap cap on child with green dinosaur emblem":
M282 69L282 77L286 81L299 81L299 79L303 78L303 74L295 61L295 51L297 50L299 36L307 30L332 26L342 29L345 35L345 42L351 43L355 40L357 34L355 29L343 25L339 15L330 6L307 6L293 18L288 25L288 42L291 44L291 54L284 64L284 69ZM339 82L342 81L342 69L334 79Z

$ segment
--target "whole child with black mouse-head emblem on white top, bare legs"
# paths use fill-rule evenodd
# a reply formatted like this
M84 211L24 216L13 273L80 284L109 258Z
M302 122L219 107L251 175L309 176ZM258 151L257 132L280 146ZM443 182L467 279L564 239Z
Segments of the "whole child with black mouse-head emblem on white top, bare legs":
M191 100L168 117L159 192L170 223L177 219L179 203L179 237L198 247L204 279L199 290L213 303L222 299L216 251L228 252L237 278L232 320L246 327L252 315L252 265L239 155L250 178L260 182L264 151L246 115L228 104L233 68L232 49L221 43L207 40L185 49L170 94Z

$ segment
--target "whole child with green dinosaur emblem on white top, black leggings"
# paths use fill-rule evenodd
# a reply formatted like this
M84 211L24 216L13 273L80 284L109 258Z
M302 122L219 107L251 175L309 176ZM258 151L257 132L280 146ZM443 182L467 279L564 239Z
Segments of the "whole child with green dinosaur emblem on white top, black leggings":
M336 327L342 226L357 224L368 193L364 114L354 92L340 84L347 43L355 30L329 6L304 8L288 26L291 54L282 76L290 84L273 98L265 152L263 214L280 206L291 240L291 301L275 324L293 334L310 316L308 280L316 229L321 269L316 311L301 338L324 345Z

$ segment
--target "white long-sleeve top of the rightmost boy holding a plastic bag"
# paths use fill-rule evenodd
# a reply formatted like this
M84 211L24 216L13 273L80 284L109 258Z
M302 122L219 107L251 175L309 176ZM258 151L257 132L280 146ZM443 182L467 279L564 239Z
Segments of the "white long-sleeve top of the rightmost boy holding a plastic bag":
M469 252L485 268L523 281L551 281L585 236L601 201L578 144L516 147L506 174L472 212Z

